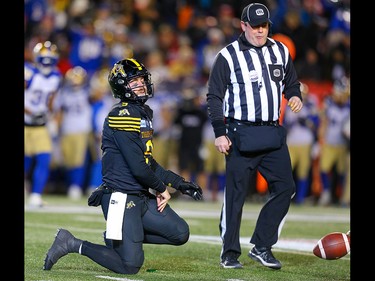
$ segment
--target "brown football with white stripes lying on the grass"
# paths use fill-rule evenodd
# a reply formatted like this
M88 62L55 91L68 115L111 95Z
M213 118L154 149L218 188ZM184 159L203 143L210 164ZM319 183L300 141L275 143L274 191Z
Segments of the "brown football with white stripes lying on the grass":
M350 252L350 234L332 232L320 238L313 249L315 256L337 260Z

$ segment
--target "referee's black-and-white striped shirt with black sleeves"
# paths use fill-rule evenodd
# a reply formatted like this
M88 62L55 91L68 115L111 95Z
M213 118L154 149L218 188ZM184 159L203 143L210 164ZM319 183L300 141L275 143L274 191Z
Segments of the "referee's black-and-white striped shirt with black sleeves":
M242 33L217 54L208 80L208 115L215 137L225 135L225 118L278 120L282 94L302 100L288 48L271 38L255 47Z

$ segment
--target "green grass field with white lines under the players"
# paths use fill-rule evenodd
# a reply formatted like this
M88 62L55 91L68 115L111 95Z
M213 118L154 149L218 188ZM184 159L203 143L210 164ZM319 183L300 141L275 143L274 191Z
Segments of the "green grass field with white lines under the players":
M79 254L62 257L50 271L42 269L45 254L57 228L66 228L80 239L104 244L105 222L100 207L88 207L85 199L69 201L62 195L45 195L46 206L24 212L24 280L27 281L345 281L350 278L350 253L338 260L323 260L312 248L298 245L316 243L330 232L350 229L350 209L292 205L274 247L283 267L272 270L247 257L249 238L261 204L247 202L241 226L243 269L219 266L220 203L172 199L170 205L190 225L191 237L183 246L144 245L145 262L136 275L115 274ZM207 238L207 239L206 239ZM285 242L285 243L284 243ZM310 243L310 244L309 244ZM288 245L291 245L289 248ZM282 246L282 247L281 247Z

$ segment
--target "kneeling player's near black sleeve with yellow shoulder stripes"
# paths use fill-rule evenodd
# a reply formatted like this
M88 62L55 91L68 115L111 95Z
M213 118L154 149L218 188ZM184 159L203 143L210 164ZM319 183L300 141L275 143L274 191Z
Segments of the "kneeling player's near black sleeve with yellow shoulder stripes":
M115 126L113 137L134 178L146 188L164 192L166 186L146 163L144 157L143 144L139 138L140 118L118 116L114 118L115 121L109 121Z

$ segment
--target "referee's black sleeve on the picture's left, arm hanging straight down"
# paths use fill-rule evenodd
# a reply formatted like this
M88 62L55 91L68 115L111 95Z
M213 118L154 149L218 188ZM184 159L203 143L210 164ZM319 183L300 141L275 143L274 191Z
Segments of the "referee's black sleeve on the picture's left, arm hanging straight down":
M218 54L210 72L207 92L207 112L216 138L226 134L223 100L229 79L228 62Z

